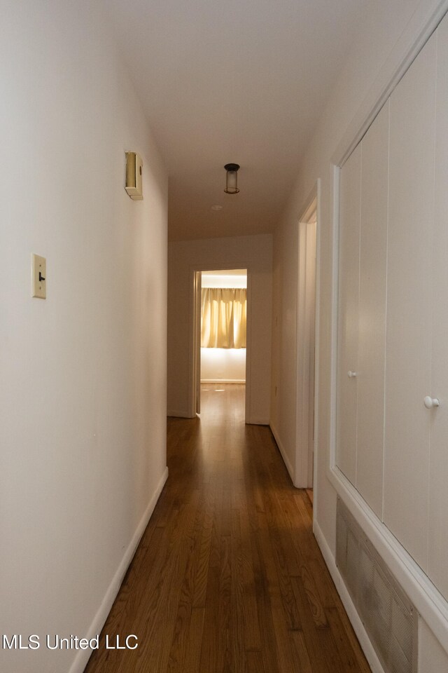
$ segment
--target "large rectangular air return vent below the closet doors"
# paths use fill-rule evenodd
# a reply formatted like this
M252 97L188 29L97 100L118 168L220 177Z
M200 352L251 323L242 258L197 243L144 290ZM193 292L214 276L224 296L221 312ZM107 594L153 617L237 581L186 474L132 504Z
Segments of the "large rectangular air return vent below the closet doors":
M340 498L336 564L384 670L416 673L416 609Z

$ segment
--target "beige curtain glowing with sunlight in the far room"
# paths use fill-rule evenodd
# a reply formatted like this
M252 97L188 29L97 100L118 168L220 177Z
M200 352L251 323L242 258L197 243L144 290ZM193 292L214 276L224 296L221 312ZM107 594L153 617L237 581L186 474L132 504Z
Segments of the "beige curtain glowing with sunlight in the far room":
M245 288L202 289L202 348L246 348Z

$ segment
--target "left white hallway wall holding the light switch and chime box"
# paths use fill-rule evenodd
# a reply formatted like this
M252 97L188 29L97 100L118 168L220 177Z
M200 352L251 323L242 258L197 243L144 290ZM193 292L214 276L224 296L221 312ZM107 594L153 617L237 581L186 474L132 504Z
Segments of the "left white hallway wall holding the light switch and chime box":
M166 477L167 174L100 5L3 9L0 632L83 637ZM140 202L125 150L143 156ZM0 650L0 669L82 671L75 658Z

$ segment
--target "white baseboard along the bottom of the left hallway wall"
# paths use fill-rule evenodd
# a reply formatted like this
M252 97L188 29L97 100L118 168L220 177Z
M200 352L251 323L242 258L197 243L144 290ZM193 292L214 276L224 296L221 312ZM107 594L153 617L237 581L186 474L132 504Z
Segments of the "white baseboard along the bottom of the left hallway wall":
M121 583L123 582L123 578L125 577L126 571L130 566L130 562L134 558L135 552L137 551L137 547L139 546L141 536L143 535L146 526L148 525L148 521L151 518L155 505L160 497L160 494L162 493L162 489L165 486L165 482L167 481L167 479L168 479L168 468L165 468L165 471L160 479L160 482L158 483L158 486L155 489L155 493L153 494L153 497L151 498L151 501L149 502L148 507L146 508L146 512L144 513L143 517L141 517L140 523L137 526L137 530L135 531L134 536L132 537L132 540L130 541L130 544L127 547L127 550L123 555L123 559L121 560L120 565L118 566L115 576L113 577L111 584L109 585L109 588L106 591L104 599L102 600L102 604L99 606L97 614L93 618L92 624L90 625L90 629L88 630L88 633L85 636L86 638L88 639L94 638L97 635L97 633L101 632L102 627L104 626L104 623L106 622L106 619L109 616L111 607L113 606L113 601L115 601L118 591L120 590L120 586ZM70 667L69 673L83 673L87 665L87 661L90 659L90 655L92 655L92 650L90 648L87 650L79 650L78 653L76 654L75 659L73 660L73 664Z

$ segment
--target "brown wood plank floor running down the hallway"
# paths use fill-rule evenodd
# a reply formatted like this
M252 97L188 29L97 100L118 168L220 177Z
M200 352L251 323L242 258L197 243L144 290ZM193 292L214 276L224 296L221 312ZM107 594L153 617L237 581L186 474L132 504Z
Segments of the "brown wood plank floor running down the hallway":
M202 386L169 419L169 480L85 673L368 673L269 428L244 386Z

